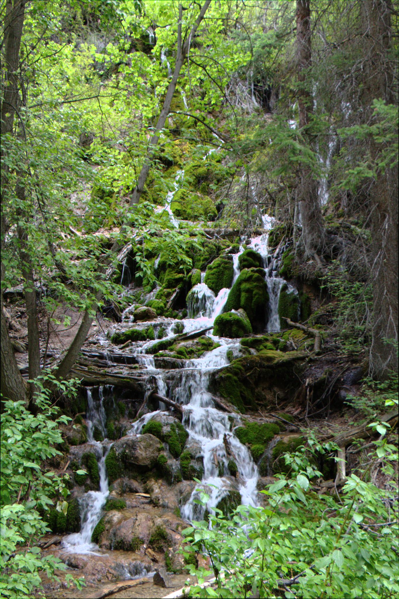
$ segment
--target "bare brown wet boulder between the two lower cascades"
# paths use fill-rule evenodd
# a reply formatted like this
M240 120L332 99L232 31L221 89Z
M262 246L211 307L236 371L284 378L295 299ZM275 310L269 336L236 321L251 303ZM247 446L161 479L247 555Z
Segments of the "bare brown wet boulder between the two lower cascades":
M123 464L133 470L145 472L156 465L162 448L159 439L151 434L129 435L115 441L112 446Z

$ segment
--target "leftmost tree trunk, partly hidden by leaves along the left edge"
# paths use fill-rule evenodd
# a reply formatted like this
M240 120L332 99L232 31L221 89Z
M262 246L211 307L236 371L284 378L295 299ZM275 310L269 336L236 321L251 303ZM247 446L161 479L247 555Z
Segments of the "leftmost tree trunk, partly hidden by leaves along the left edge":
M19 81L17 69L19 67L19 50L22 38L23 20L25 17L26 0L7 0L4 20L4 65L5 81L3 99L1 104L1 137L11 134L14 125L17 102L19 100ZM4 150L1 149L1 158ZM8 231L7 219L4 213L5 198L7 198L8 168L3 164L1 170L1 249L4 247L5 235ZM1 281L5 277L5 267L1 263ZM28 386L23 380L13 346L8 335L7 324L3 312L3 297L0 292L1 303L1 392L4 397L13 401L27 401Z

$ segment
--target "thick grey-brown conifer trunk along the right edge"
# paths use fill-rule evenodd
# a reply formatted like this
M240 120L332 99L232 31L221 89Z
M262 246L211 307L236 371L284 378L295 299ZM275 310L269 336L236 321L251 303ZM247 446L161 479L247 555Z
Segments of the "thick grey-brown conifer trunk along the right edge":
M364 122L375 122L374 98L397 103L392 65L391 0L362 0ZM370 136L370 155L378 161L383 143ZM398 371L398 166L377 173L369 190L371 211L373 337L370 370L380 379ZM394 343L392 343L394 341Z

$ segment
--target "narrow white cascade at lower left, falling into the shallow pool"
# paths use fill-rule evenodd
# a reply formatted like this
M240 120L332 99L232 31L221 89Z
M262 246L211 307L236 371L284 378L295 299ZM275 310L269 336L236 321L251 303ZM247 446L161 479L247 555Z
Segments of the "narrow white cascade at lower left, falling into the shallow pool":
M100 475L99 491L88 491L79 499L81 512L80 533L69 534L63 539L63 547L72 553L93 553L98 546L92 543L92 534L101 516L102 508L109 494L108 475L106 473L105 458L111 449L112 443L108 441L95 441L95 426L105 435L105 410L103 408L103 388L99 389L99 402L93 400L91 389L87 389L87 439L93 445L98 459Z

